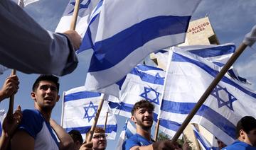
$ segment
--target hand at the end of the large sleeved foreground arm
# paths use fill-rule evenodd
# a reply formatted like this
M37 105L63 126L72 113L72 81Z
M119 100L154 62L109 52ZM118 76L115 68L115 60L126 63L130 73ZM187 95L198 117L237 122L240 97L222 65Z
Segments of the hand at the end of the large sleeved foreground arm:
M75 50L78 50L81 45L82 37L78 35L78 33L75 30L67 30L63 34L68 36L68 39L73 45L73 48Z

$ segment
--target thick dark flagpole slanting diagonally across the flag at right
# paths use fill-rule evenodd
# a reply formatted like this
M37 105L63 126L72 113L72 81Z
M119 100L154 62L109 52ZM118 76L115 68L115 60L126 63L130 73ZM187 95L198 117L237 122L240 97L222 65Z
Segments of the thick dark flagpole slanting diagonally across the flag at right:
M232 55L232 57L230 57L230 59L228 60L228 62L225 64L225 66L223 67L223 69L220 70L220 72L218 73L218 75L215 77L215 79L212 81L212 83L210 83L210 86L208 86L208 88L206 89L206 91L203 93L203 96L201 96L201 98L198 100L198 103L196 104L196 106L193 108L193 110L191 110L191 113L188 114L188 116L186 117L186 119L184 120L184 122L182 123L181 127L178 129L178 131L176 132L176 134L174 135L173 139L171 142L176 142L176 140L178 139L178 137L182 134L183 130L186 128L186 126L188 125L188 123L192 120L193 116L196 115L196 112L199 110L199 108L201 107L201 105L203 105L203 103L206 101L206 99L208 98L208 96L210 95L210 93L213 91L213 88L215 88L215 86L217 86L217 84L219 83L219 81L223 78L223 76L225 75L225 73L228 71L228 69L230 69L230 67L232 66L232 64L235 62L236 59L238 59L238 57L240 56L240 54L242 54L242 52L245 50L245 48L247 47L247 45L245 45L244 43L242 43L239 47L238 50L236 50L236 52Z

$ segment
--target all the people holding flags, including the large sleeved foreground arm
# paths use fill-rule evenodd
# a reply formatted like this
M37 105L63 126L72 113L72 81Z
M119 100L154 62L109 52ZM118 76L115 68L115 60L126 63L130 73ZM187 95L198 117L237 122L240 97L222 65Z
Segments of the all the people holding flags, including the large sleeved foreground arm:
M17 15L18 14L18 15ZM81 37L73 30L50 33L19 8L13 1L0 1L0 64L31 74L55 74L63 76L72 72L78 64L75 50ZM10 30L8 30L11 28ZM33 40L29 40L33 39ZM13 44L16 41L16 44ZM26 50L26 51L25 51ZM33 57L28 57L33 53ZM61 54L62 57L59 57ZM42 57L45 56L45 57ZM43 67L41 62L46 63ZM0 91L0 101L18 91L18 76L9 76ZM0 139L0 149L106 149L107 134L96 127L91 142L84 142L79 131L65 132L51 113L60 96L58 77L41 75L32 86L33 110L8 111ZM141 100L134 104L131 120L137 132L127 139L122 149L189 149L171 140L155 142L151 139L154 105ZM256 149L256 120L245 116L237 124L237 140L222 149Z

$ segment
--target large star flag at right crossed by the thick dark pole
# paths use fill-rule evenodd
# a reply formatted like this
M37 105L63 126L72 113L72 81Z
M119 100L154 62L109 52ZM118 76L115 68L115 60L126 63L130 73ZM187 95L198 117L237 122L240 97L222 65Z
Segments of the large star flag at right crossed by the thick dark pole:
M167 67L160 118L183 122L218 74L220 67L174 47ZM214 88L191 122L202 125L226 144L235 140L235 125L245 115L256 114L256 94L227 74Z

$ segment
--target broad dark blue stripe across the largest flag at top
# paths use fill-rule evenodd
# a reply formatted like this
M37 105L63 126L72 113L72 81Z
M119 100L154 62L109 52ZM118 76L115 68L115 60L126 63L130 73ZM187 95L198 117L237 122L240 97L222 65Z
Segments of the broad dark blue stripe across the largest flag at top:
M95 54L92 56L89 72L114 67L131 52L157 37L185 33L190 18L191 16L157 16L149 18L122 30L110 38L96 42L94 46ZM85 35L85 37L87 36L90 37L90 35ZM82 40L81 50L92 45L92 42L86 39ZM89 46L87 46L88 44Z

